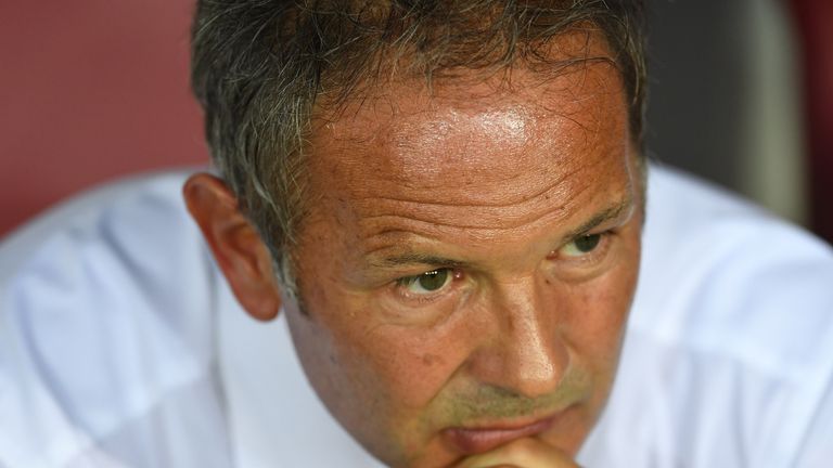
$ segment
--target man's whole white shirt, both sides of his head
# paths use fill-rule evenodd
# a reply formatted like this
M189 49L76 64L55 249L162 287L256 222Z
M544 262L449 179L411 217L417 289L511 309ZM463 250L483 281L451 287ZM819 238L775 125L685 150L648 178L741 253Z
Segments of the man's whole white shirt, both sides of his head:
M285 323L234 301L185 173L76 198L0 244L0 467L381 467ZM833 466L833 252L652 167L621 364L589 467Z

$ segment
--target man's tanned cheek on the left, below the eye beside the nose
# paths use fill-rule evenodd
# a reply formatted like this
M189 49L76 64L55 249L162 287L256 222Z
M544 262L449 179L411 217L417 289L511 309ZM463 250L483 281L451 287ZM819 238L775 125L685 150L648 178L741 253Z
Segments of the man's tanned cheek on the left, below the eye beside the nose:
M415 417L465 359L462 321L431 329L395 326L379 318L366 295L326 281L310 286L307 306L315 320L299 318L308 322L299 328L320 343L305 353L330 375L331 395L373 402L394 424Z

